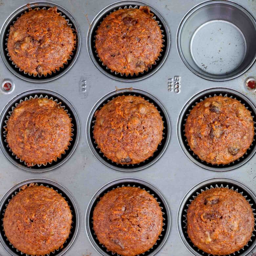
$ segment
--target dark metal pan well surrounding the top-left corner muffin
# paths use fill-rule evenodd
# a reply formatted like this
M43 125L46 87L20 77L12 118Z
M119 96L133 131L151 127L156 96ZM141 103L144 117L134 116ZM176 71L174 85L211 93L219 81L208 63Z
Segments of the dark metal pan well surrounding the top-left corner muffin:
M71 58L68 60L68 63L64 64L63 68L59 68L59 71L56 70L55 73L53 72L52 75L48 74L46 76L42 75L39 77L38 75L34 76L34 75L29 75L28 73L26 74L24 71L21 71L10 59L10 55L7 50L7 40L8 40L9 31L10 31L10 26L13 25L13 23L17 20L17 18L19 18L22 14L24 14L26 11L29 11L29 9L35 9L35 8L48 9L54 6L58 8L57 12L60 12L61 15L65 17L69 26L74 30L74 33L76 34L75 50L72 52L73 54L70 56ZM1 41L0 54L6 67L14 75L18 76L19 78L29 82L33 82L33 83L49 82L67 73L75 64L75 61L78 57L78 54L80 52L80 47L81 47L81 35L80 35L78 24L76 23L74 17L71 15L71 13L69 13L67 10L65 10L61 6L58 6L57 4L52 4L49 2L38 2L38 3L34 2L31 4L27 4L19 8L15 12L13 12L11 16L4 23L4 26L2 27L2 30L0 33L0 41Z

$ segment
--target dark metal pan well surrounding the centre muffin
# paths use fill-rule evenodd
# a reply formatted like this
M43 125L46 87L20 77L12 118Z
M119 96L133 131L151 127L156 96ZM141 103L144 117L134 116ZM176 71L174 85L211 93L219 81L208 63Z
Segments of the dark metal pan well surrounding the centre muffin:
M117 164L113 162L112 160L106 158L103 153L100 151L98 148L96 141L94 139L93 135L93 127L94 123L96 121L96 118L94 117L95 112L103 107L107 102L112 100L115 97L122 96L122 95L132 95L132 96L141 96L145 100L148 100L150 103L153 103L155 107L157 107L157 110L160 112L160 116L162 117L163 120L163 139L161 143L159 144L157 151L154 152L153 156L148 158L147 160L139 163L139 164L127 164L127 165L122 165L122 164ZM124 89L124 90L119 90L112 92L103 98L101 98L96 105L93 107L91 114L88 118L87 121L87 140L89 143L89 146L96 156L98 160L100 160L102 163L107 165L108 167L115 169L117 171L124 171L124 172L134 172L134 171L139 171L142 169L145 169L155 163L164 153L166 150L169 140L170 140L170 135L171 135L171 125L170 125L170 119L168 117L168 114L164 108L164 106L161 104L161 102L155 98L154 96L150 95L149 93L146 93L141 90L137 89Z

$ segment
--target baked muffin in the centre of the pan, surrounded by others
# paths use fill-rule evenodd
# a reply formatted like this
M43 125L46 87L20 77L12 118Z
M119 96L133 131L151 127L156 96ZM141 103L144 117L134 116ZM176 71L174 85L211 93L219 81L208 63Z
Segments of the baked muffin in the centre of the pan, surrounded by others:
M95 117L96 143L116 163L140 163L153 155L162 140L162 118L141 97L116 97L96 111Z

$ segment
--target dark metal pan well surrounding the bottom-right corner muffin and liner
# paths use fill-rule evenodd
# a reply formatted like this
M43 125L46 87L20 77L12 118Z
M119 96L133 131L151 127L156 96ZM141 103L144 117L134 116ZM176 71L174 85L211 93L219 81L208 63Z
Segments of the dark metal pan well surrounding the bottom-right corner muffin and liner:
M199 250L188 237L187 234L187 223L186 223L186 214L187 214L187 209L190 203L196 198L200 193L205 191L206 189L210 188L215 188L215 187L227 187L229 189L233 189L237 191L238 193L241 193L245 199L251 204L251 208L253 209L253 214L255 217L255 209L256 209L256 197L254 193L247 188L245 185L242 183L231 180L231 179L226 179L226 178L215 178L215 179L210 179L203 181L196 186L194 186L191 190L187 192L185 197L183 198L179 211L178 211L178 229L179 229L179 234L181 237L182 242L184 245L187 247L187 249L195 256L202 256L205 255L205 253L202 250ZM255 219L255 218L254 218ZM256 226L256 224L255 224ZM232 253L232 255L249 255L249 253L253 250L253 248L256 245L256 238L255 238L255 226L254 226L254 231L252 232L252 237L250 241L248 242L247 245L244 246L244 248L240 249L240 251L237 251L235 253ZM206 254L207 255L207 254ZM208 256L212 256L212 254L208 254Z

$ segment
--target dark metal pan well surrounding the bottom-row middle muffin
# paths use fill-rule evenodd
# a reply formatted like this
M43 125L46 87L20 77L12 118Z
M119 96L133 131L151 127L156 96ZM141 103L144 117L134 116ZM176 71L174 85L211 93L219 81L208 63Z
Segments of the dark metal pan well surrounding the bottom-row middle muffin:
M108 251L105 246L102 246L99 243L99 241L95 235L95 232L93 230L92 217L93 217L94 208L95 208L96 204L98 203L99 199L103 195L105 195L107 192L109 192L110 190L115 189L117 187L122 187L122 186L123 187L124 186L131 186L131 187L134 186L134 187L139 187L141 189L145 189L148 193L150 193L151 195L154 196L154 198L159 203L159 206L162 208L162 213L163 213L162 233L159 236L159 240L157 240L156 244L151 249L149 249L148 251L143 253L143 255L145 255L145 256L156 255L156 253L161 249L161 247L165 244L165 242L168 238L170 228L171 228L171 213L170 213L168 203L166 202L166 200L165 200L164 196L161 194L161 192L156 187L149 184L148 182L142 181L139 179L127 178L127 179L119 179L116 181L112 181L112 182L106 184L105 186L103 186L102 188L100 188L96 192L96 194L94 195L94 197L92 198L92 200L88 206L88 209L86 212L86 217L85 217L86 231L89 236L89 239L90 239L92 245L96 248L96 250L101 255L104 255L104 256L117 255L116 253Z

